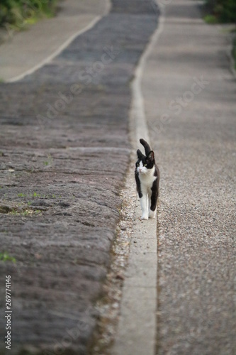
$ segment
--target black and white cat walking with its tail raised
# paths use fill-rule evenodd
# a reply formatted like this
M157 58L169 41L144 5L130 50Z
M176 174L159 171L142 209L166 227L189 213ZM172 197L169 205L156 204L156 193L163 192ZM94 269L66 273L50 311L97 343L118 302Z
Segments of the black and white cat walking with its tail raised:
M145 148L145 155L137 149L135 180L142 209L141 219L155 218L159 195L159 169L155 164L154 152L149 144L142 138L140 143Z

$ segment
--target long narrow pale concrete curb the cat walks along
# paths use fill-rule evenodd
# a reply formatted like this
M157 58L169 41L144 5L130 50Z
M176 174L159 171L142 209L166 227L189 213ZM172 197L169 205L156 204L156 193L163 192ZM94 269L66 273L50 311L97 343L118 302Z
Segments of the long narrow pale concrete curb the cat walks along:
M154 32L135 71L132 84L133 102L130 112L130 140L135 151L140 145L139 139L150 142L141 82L145 62L157 42L164 25L164 16L160 18L157 31ZM132 157L135 166L135 154ZM133 170L130 169L126 180L133 181L130 195L135 194ZM127 187L126 187L127 188ZM130 240L130 256L125 273L123 297L120 305L120 321L113 355L152 355L156 346L156 309L157 309L157 220L140 220L140 202L137 199L134 211L133 237Z

